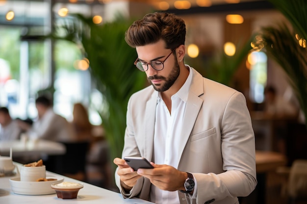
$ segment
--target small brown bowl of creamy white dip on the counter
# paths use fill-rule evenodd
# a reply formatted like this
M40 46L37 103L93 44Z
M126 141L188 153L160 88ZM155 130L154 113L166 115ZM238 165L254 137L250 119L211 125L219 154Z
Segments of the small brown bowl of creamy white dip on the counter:
M83 188L83 184L76 182L61 182L51 184L51 188L55 190L58 198L75 199L77 198L79 190Z

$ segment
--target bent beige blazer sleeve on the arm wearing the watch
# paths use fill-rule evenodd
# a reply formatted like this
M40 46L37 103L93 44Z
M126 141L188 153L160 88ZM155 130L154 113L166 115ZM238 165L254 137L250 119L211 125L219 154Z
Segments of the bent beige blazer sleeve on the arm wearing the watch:
M222 116L221 151L224 172L193 173L197 204L248 196L256 187L255 136L245 97L237 91Z

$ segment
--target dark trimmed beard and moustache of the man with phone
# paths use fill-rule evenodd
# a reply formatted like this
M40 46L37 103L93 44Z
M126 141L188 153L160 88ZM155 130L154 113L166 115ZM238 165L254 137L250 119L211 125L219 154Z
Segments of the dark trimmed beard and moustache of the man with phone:
M153 89L155 91L163 92L163 91L169 90L169 88L171 88L173 86L175 81L178 79L179 74L180 74L180 68L179 68L179 64L176 60L174 67L173 67L171 73L168 75L167 78L164 77L164 76L153 75L153 76L149 76L147 79L153 85ZM165 83L164 84L163 83L153 84L152 81L151 81L153 79L163 80L163 81L165 81Z

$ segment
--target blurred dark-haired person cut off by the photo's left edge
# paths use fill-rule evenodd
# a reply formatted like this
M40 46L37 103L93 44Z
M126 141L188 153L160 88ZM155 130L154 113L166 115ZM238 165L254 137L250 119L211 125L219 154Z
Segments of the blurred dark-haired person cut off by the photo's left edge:
M6 107L0 107L0 141L19 139L21 129Z

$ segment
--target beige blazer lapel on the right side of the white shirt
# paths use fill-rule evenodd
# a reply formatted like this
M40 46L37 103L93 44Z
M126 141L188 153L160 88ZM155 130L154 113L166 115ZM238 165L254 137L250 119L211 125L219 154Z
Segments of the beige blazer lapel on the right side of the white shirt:
M179 158L181 158L184 147L190 137L192 129L194 127L197 115L202 107L203 99L199 96L204 94L204 80L203 76L193 69L193 79L190 86L188 100L185 107L185 112L183 116L183 127L181 130L180 141L181 145L178 147ZM179 163L177 164L178 167Z

